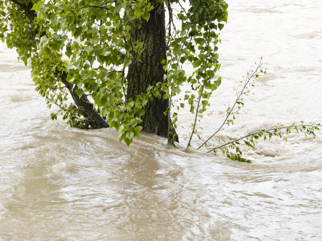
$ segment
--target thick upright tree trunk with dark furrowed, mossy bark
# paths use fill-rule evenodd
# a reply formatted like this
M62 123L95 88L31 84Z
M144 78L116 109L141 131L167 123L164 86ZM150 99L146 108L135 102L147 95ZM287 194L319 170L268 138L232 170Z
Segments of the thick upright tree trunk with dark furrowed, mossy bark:
M149 21L144 21L140 28L131 26L131 38L143 42L145 49L140 56L131 51L132 63L128 68L127 99L135 100L137 95L146 93L149 85L155 86L158 82L164 82L163 76L166 72L161 63L166 59L164 5L155 4L154 9L149 13ZM153 96L153 101L148 102L144 107L145 114L141 116L140 126L148 132L178 141L175 129L172 127L172 134L168 136L169 113L165 115L164 112L169 107L169 101L162 98L163 94L161 93L161 99Z

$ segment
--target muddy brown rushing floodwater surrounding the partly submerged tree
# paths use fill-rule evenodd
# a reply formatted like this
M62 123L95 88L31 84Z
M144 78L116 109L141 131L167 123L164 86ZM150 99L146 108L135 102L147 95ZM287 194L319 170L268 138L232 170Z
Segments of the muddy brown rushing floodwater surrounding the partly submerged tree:
M223 121L233 88L263 56L236 138L294 121L322 122L320 0L231 0L219 46L223 84L201 116ZM180 151L142 133L51 121L30 70L0 45L0 240L322 240L322 132L244 149L252 164ZM184 145L193 116L180 119Z

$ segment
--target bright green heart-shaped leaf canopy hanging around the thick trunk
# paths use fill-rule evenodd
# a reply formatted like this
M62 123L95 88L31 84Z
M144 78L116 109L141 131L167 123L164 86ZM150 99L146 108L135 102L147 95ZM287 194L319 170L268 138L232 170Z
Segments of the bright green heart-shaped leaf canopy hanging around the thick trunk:
M131 38L129 31L133 25L140 28L149 21L150 11L160 4L165 4L169 13L164 36L167 59L162 60L164 82L125 100L130 50L140 55L145 47ZM164 13L161 6L157 11ZM79 97L91 97L110 128L118 130L119 140L129 145L142 129L138 125L144 114L142 107L152 96L170 99L167 111L173 112L171 124L176 121L173 107L184 107L184 100L192 113L206 110L207 100L221 83L216 77L220 68L216 45L223 22L227 22L227 7L223 0L5 0L0 1L0 38L9 48L16 48L26 66L30 64L35 90L46 98L49 108L58 105L58 112L71 126L90 128L91 120L84 118L84 110L66 103L70 84ZM181 26L174 25L174 17ZM187 63L194 68L191 76L183 70ZM60 78L64 74L67 84ZM191 90L184 100L171 102L187 84ZM52 119L56 118L57 112L52 113Z

